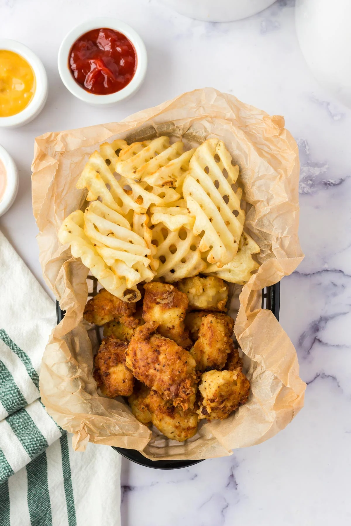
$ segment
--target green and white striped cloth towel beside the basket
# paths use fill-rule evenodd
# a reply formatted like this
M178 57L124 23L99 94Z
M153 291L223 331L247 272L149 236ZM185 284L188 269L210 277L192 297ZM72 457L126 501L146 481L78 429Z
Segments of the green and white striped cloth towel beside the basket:
M45 411L38 371L55 304L0 232L0 526L119 526L121 457Z

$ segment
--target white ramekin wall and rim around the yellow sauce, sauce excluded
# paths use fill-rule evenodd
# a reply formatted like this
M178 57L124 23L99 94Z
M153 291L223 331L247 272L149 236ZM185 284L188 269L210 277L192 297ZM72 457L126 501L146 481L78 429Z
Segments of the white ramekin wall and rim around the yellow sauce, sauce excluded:
M42 111L47 99L46 71L42 61L21 42L0 38L0 49L7 49L21 55L32 66L35 75L35 93L28 106L11 117L0 117L0 128L16 128L29 123Z

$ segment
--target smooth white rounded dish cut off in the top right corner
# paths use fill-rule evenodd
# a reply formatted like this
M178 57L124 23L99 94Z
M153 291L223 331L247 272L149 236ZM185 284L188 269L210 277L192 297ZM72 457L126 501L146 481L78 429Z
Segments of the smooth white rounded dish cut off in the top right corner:
M296 33L314 76L351 107L351 2L297 0Z

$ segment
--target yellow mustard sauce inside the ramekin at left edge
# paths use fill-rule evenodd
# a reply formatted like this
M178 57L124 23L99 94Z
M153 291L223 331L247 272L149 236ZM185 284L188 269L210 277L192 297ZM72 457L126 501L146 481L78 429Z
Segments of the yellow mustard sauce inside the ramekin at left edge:
M11 117L28 106L35 93L35 75L21 55L0 49L0 117Z

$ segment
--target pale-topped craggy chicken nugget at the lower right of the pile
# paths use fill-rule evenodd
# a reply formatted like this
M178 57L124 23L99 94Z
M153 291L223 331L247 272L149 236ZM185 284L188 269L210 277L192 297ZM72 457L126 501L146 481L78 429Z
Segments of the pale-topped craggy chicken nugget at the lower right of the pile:
M224 420L247 402L250 382L240 368L235 371L204 372L199 384L202 395L199 418Z

